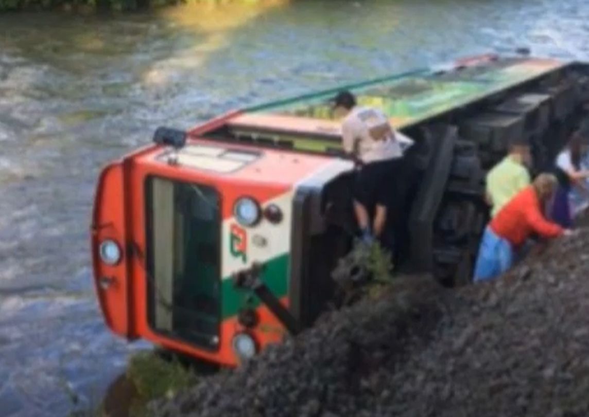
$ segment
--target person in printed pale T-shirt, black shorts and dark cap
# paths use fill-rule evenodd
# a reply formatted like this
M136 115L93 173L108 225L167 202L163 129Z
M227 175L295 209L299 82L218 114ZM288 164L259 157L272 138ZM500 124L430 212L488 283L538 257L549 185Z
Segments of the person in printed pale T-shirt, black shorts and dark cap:
M342 145L359 167L354 186L354 212L362 239L383 237L389 211L400 201L401 145L382 111L356 105L356 97L342 91L332 100L342 115ZM370 222L370 211L374 216Z

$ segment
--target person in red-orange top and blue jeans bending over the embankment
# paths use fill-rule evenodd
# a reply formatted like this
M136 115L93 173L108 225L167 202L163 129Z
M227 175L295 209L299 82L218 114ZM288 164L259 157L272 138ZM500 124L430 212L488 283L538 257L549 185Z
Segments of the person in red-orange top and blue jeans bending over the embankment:
M544 218L543 207L557 186L554 175L540 174L499 210L482 237L474 281L496 278L511 268L515 251L534 232L547 239L571 233Z

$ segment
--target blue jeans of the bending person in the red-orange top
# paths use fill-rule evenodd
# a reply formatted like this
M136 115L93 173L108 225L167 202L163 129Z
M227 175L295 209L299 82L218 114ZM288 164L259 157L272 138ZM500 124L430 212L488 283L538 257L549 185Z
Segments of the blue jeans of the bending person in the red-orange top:
M487 281L506 272L514 262L511 243L500 238L487 226L474 271L474 281Z

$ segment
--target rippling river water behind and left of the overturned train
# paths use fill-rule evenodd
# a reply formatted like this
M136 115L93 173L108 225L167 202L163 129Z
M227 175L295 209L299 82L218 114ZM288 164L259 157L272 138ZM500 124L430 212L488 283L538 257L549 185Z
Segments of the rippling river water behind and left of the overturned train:
M585 0L239 1L95 18L0 16L0 416L100 401L145 343L94 299L100 166L158 125L456 56L589 59Z

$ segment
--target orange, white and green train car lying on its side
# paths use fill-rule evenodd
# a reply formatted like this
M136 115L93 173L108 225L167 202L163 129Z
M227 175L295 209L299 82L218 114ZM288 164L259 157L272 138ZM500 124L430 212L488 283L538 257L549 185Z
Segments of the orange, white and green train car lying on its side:
M487 221L485 172L514 136L548 164L584 116L589 69L494 55L347 85L405 144L405 267L466 283ZM312 325L350 248L353 166L339 89L234 111L105 166L91 249L117 335L234 366Z

